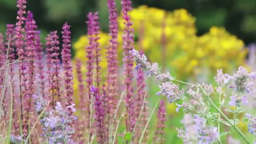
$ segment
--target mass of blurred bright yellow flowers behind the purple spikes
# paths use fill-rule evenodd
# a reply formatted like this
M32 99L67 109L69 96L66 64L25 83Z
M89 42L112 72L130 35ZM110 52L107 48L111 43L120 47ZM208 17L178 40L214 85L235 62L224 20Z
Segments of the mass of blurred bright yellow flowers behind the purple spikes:
M135 48L143 50L150 61L158 62L164 68L170 69L179 79L196 78L205 69L216 73L216 69L224 71L244 65L247 51L244 43L224 28L211 27L208 33L197 36L195 17L185 9L173 12L142 5L130 12L135 31ZM122 59L122 29L123 19L119 22L119 60ZM106 69L105 46L109 36L100 35L101 67ZM85 46L88 45L86 36L80 37L75 43L75 58L86 61ZM205 72L204 72L205 73Z

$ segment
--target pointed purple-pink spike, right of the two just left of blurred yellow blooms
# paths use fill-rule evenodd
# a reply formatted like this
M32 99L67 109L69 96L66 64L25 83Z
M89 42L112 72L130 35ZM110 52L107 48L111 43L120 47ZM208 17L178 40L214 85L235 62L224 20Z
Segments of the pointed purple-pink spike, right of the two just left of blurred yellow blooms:
M65 90L66 90L66 99L67 104L66 107L73 104L73 95L74 95L74 89L73 89L73 71L72 71L72 65L71 65L71 40L70 40L70 26L65 23L62 27L63 31L62 33L62 65L64 69L64 75L65 75ZM70 113L72 115L72 113Z

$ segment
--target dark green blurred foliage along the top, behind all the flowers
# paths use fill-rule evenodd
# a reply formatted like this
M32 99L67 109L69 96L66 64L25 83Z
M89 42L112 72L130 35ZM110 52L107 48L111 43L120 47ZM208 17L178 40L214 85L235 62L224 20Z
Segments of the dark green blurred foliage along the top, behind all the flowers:
M72 25L72 39L76 41L86 33L86 15L98 11L101 28L108 29L107 0L27 0L27 7L35 15L37 25L45 35L51 30L61 30L65 21ZM173 11L185 8L195 16L197 35L202 35L211 26L223 26L245 44L255 42L256 0L132 0L133 7L148 5ZM116 0L120 10L120 0ZM0 0L0 32L5 25L15 23L16 0Z

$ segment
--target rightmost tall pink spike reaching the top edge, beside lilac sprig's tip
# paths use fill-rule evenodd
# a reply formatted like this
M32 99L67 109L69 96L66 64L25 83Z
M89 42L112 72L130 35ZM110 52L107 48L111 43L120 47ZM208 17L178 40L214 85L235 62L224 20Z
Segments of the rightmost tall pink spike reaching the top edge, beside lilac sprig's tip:
M132 80L134 77L133 74L133 55L130 53L133 50L133 37L134 37L134 30L131 28L132 22L131 18L128 15L128 12L131 11L131 0L122 0L121 4L123 19L125 20L124 25L124 32L123 32L123 62L124 62L124 69L125 69L125 91L126 91L126 131L132 132L135 126L135 119L134 119L134 102L133 102L133 88L132 88Z

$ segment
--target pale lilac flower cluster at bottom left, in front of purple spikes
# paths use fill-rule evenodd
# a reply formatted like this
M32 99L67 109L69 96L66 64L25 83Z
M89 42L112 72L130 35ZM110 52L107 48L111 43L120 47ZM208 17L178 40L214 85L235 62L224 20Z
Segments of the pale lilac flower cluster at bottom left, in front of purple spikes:
M76 111L74 106L75 104L71 104L63 108L58 101L53 111L44 112L40 122L44 131L42 136L45 143L74 144L72 135L75 133L75 129L72 127L72 123L77 120L77 117L71 115Z

